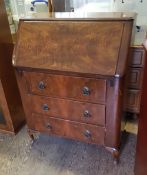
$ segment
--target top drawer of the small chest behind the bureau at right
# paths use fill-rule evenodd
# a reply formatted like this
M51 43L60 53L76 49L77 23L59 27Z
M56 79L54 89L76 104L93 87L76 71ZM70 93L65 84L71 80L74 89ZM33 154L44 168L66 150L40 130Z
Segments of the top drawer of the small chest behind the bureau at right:
M144 67L145 51L143 48L132 48L130 50L131 67Z

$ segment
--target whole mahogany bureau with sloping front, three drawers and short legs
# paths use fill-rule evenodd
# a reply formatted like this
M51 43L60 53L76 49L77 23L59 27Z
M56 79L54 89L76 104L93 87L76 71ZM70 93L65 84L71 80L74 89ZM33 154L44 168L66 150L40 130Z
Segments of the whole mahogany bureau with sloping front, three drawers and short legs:
M13 65L28 131L104 145L119 156L134 14L52 13L20 21Z

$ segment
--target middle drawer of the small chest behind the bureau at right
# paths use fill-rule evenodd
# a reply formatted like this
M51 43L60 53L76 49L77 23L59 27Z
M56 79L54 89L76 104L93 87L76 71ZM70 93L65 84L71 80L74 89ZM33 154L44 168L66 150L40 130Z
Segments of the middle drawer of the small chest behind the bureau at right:
M143 70L141 68L130 68L128 72L128 87L141 89L143 80Z

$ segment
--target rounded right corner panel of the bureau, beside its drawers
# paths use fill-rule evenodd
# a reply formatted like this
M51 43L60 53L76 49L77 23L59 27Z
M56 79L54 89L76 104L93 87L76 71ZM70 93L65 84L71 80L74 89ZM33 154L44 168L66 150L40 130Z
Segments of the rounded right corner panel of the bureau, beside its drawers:
M107 83L105 146L118 149L121 136L123 78L112 78Z

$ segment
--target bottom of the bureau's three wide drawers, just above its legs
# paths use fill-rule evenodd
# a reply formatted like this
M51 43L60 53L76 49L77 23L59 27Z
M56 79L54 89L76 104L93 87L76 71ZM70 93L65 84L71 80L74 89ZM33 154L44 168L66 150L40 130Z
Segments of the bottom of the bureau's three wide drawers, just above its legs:
M31 129L88 143L104 144L103 127L32 114Z

